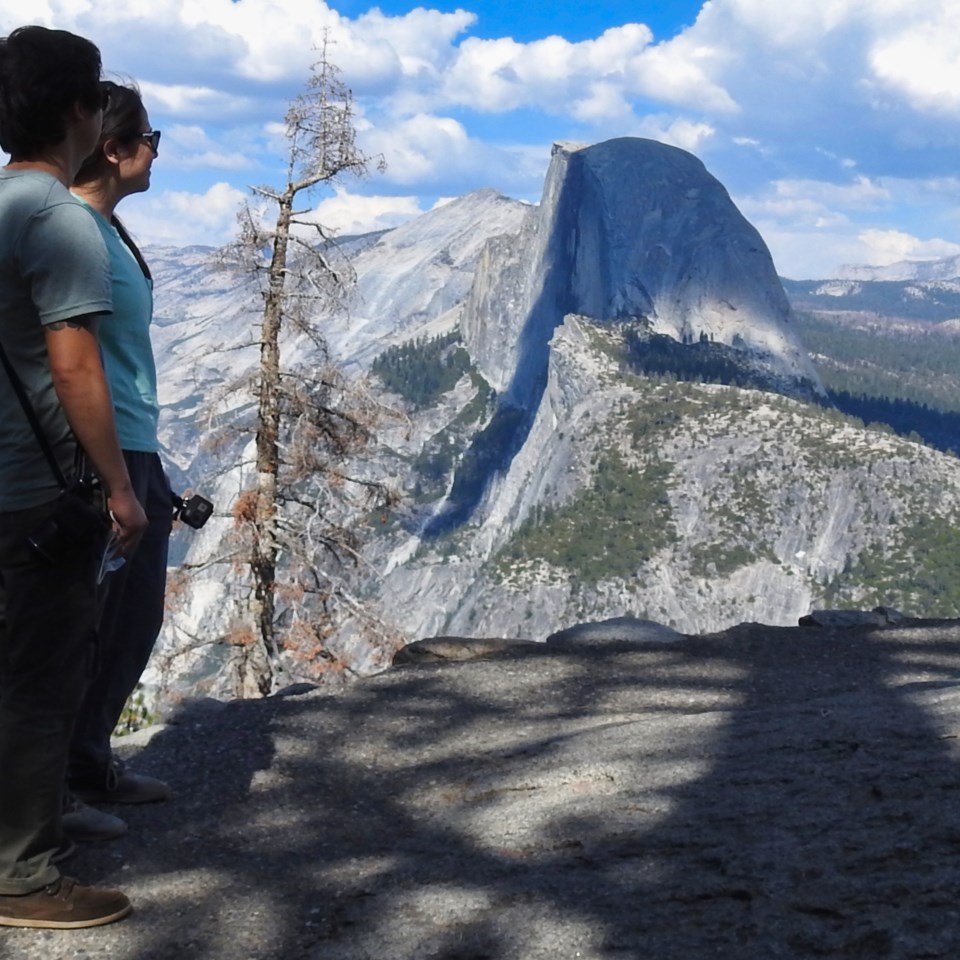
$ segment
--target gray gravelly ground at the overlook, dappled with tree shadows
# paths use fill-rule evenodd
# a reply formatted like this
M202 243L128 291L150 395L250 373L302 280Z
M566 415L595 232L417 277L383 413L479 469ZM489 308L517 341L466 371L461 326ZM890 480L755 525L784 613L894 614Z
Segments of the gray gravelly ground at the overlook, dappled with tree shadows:
M68 872L136 912L0 957L956 957L960 623L406 659L128 744L176 796Z

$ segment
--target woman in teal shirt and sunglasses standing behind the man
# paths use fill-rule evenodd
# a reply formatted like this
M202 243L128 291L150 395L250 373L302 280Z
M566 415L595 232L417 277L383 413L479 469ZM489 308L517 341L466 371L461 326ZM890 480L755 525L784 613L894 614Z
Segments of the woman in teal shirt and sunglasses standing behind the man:
M100 325L120 447L137 498L149 519L137 551L109 576L99 631L96 674L84 699L70 748L69 789L90 803L164 800L169 788L114 758L110 735L133 692L163 624L170 485L157 441L157 372L150 343L153 281L136 244L115 216L124 197L150 186L160 131L150 128L139 91L105 81L108 105L96 151L84 162L73 193L89 209L110 255L113 314ZM68 800L65 829L76 840L125 832L119 817Z

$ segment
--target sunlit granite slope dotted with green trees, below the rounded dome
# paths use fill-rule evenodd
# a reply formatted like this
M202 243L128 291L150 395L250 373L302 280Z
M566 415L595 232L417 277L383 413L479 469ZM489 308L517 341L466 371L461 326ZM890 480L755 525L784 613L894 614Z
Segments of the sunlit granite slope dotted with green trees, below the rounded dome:
M527 443L478 516L434 540L402 522L384 535L378 593L405 632L960 615L955 458L822 404L636 373L628 343L568 318Z

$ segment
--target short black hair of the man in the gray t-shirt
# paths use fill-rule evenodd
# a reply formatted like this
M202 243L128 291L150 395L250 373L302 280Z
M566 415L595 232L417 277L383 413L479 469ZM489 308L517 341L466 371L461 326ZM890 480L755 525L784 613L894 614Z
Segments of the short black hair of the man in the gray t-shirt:
M66 30L20 27L0 39L0 147L33 159L67 135L75 103L101 103L100 51Z

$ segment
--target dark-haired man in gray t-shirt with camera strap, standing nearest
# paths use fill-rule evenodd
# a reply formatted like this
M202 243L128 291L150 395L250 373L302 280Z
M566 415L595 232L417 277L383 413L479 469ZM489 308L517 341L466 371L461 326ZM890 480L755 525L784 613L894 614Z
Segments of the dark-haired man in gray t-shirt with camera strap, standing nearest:
M0 39L0 147L11 156L0 172L0 344L62 472L82 449L100 477L129 552L147 520L97 344L108 261L67 189L100 136L99 80L97 48L73 34L22 27ZM98 926L125 917L129 900L53 862L69 852L61 803L93 654L96 545L47 556L31 546L59 485L2 368L0 404L0 926Z

